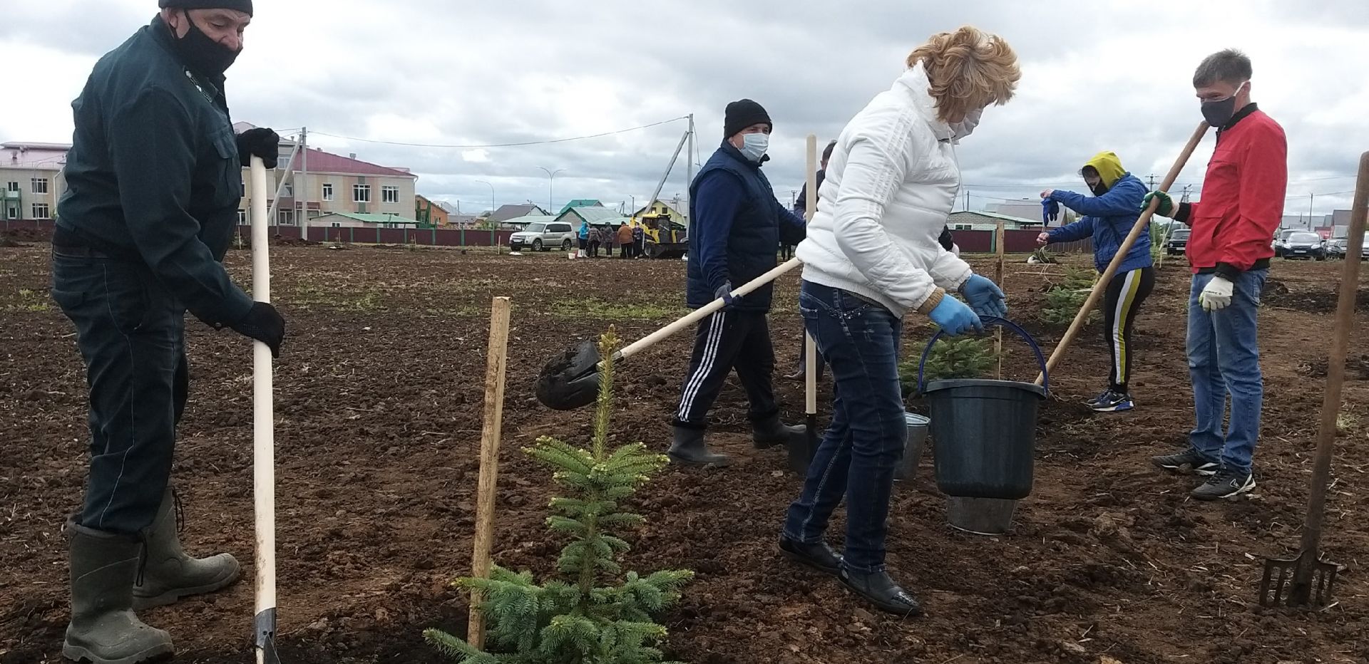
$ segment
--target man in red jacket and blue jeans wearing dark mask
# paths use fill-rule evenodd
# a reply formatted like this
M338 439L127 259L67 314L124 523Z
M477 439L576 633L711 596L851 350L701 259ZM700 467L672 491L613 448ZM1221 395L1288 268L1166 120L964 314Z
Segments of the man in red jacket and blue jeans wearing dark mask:
M1288 188L1283 127L1250 101L1250 58L1239 51L1207 56L1194 74L1202 115L1217 127L1202 201L1175 204L1165 192L1155 212L1192 227L1188 263L1188 371L1197 426L1190 448L1153 459L1155 465L1206 475L1198 500L1232 498L1255 487L1251 457L1259 438L1264 378L1255 314L1275 255L1270 240ZM1227 396L1231 427L1223 431Z

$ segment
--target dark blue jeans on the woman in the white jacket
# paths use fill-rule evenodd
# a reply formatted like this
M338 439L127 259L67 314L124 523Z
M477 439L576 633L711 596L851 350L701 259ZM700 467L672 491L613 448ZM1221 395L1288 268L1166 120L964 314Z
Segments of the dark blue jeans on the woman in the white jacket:
M888 497L904 457L908 424L898 382L902 320L852 293L804 282L804 327L831 366L832 423L808 465L804 493L789 507L784 537L817 542L846 498L843 564L884 568Z

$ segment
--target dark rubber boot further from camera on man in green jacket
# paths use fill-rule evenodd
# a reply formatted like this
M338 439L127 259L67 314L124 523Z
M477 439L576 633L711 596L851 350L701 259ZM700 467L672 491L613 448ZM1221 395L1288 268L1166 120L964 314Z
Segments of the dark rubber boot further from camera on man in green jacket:
M179 501L167 487L157 516L144 531L148 545L142 582L133 587L133 608L163 606L200 593L212 593L238 580L238 561L227 553L193 559L181 550Z

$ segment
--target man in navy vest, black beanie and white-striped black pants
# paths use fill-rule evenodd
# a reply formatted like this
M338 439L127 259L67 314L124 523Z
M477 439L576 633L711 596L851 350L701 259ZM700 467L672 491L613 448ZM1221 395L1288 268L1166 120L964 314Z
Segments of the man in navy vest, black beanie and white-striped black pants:
M679 463L730 463L728 457L708 450L704 431L708 411L732 370L746 389L757 448L782 445L805 434L802 426L780 422L771 383L775 348L765 315L773 289L767 283L732 297L732 286L775 267L775 246L804 240L804 218L775 199L761 173L761 164L769 159L765 151L771 129L769 115L756 101L727 104L723 145L690 183L689 305L700 308L723 298L727 308L700 322L694 337L680 405L671 422L675 439L669 456Z

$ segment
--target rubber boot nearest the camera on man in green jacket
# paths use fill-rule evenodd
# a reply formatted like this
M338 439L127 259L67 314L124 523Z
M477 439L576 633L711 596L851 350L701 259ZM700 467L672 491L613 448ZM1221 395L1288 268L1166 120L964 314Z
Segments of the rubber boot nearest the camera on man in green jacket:
M71 623L62 643L68 660L137 664L171 654L171 635L133 613L133 583L142 542L136 537L67 524L71 552Z

